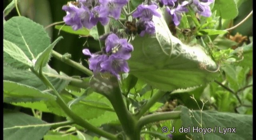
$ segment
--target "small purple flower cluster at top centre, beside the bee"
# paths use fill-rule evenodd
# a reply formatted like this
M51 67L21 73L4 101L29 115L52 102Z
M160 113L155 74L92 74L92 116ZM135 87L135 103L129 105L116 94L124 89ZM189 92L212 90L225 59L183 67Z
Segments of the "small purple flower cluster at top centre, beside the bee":
M151 5L140 4L137 10L132 14L134 18L140 18L136 23L136 26L142 27L140 36L144 36L145 33L154 34L156 32L154 22L152 21L153 16L161 17L161 15L156 12L158 6L154 3Z

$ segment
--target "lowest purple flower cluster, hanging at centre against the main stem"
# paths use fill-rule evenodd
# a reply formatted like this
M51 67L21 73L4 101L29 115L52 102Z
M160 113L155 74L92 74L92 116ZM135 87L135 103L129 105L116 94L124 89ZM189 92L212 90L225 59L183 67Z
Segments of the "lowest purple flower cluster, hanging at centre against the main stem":
M83 53L90 56L89 68L94 73L108 72L120 79L120 72L129 72L128 60L133 46L126 39L118 38L116 34L110 34L105 40L105 50L101 54L91 54L88 49Z

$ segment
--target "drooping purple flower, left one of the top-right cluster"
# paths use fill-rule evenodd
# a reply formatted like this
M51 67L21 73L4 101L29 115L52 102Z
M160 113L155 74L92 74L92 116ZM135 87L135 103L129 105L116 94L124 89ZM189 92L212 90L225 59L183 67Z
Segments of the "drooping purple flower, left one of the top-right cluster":
M172 20L174 21L174 24L178 26L180 24L181 20L181 14L184 12L188 12L188 9L185 7L188 4L187 1L182 2L182 4L179 4L176 8L170 9L169 7L166 8L167 12L172 16Z

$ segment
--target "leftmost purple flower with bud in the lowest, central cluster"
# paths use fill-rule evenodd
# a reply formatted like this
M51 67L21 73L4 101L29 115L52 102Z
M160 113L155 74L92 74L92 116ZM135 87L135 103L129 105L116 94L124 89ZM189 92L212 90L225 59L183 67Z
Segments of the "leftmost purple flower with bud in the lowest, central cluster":
M101 67L100 64L106 60L108 60L108 56L103 54L91 54L90 50L84 49L83 54L90 56L89 58L89 69L93 72L100 72Z

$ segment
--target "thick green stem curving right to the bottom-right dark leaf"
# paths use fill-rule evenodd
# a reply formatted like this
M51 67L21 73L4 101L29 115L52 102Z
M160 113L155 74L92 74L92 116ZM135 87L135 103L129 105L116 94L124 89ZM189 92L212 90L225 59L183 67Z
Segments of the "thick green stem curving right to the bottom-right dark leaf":
M151 122L158 122L161 120L173 120L180 118L180 111L171 111L171 112L163 112L157 114L150 114L140 118L138 121L138 128L139 130L146 124Z

